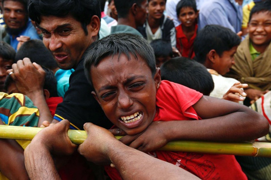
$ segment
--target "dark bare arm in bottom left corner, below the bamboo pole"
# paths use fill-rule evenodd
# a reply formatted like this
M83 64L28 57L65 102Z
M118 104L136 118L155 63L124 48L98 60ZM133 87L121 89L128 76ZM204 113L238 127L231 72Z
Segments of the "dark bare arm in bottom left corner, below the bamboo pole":
M4 125L1 120L0 124ZM8 179L29 179L24 166L23 148L15 140L0 139L0 159L0 171Z

